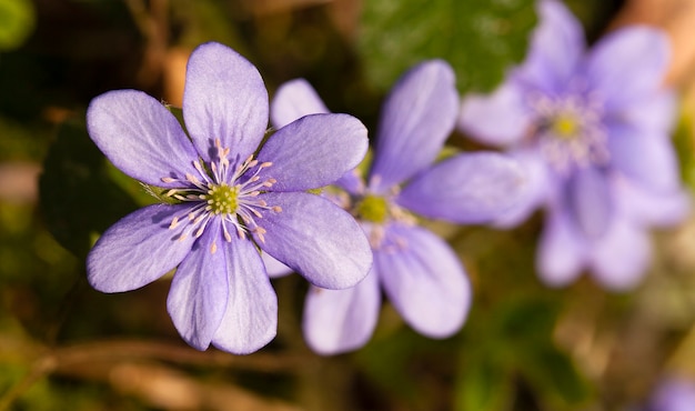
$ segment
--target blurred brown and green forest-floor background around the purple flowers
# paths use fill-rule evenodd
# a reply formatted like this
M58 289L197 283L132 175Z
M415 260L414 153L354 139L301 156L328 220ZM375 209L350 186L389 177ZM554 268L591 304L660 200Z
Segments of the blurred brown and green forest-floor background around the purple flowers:
M674 141L693 188L695 1L566 3L590 42L633 22L669 31ZM490 91L535 24L532 0L0 0L0 410L645 410L669 381L695 391L695 220L654 233L653 265L628 293L588 275L543 287L540 213L511 231L432 223L473 281L465 327L429 340L385 304L372 341L335 357L302 340L296 275L273 280L278 338L245 357L189 348L165 311L168 279L123 294L87 283L99 233L152 202L89 140L93 97L133 88L180 106L190 51L215 40L271 96L306 78L373 130L412 64L443 58L462 94Z

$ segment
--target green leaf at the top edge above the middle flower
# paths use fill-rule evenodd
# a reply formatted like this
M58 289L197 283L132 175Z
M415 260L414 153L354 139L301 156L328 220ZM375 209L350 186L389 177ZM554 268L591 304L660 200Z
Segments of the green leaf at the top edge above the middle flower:
M459 89L490 91L521 62L535 26L534 0L365 1L357 50L385 90L410 67L449 61Z

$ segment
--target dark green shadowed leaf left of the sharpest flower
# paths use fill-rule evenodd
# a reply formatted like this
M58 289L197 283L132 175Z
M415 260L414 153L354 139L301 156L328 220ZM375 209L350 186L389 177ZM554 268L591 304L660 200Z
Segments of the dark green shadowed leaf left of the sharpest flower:
M98 233L138 208L110 168L83 122L61 126L39 179L40 207L53 237L80 258Z

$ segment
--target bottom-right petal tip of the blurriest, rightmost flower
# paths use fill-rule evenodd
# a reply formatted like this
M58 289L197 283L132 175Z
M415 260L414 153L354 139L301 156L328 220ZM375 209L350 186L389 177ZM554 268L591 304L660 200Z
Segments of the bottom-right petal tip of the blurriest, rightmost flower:
M605 234L592 242L590 265L604 287L615 291L634 288L652 257L646 230L625 218L613 219Z

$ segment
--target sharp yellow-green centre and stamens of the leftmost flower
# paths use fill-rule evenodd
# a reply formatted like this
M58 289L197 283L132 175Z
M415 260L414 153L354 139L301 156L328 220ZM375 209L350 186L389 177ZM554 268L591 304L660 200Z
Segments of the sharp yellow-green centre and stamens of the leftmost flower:
M265 229L258 224L265 212L281 212L280 206L269 206L262 193L268 191L276 181L273 178L261 179L261 170L272 166L271 162L259 163L250 156L246 160L230 170L228 159L230 149L222 148L220 140L215 141L218 158L209 164L202 160L194 161L193 167L198 176L187 174L185 179L162 178L165 183L179 182L182 188L170 189L167 196L181 202L190 202L191 208L183 215L171 220L169 228L179 229L183 225L179 239L183 240L193 234L199 238L205 227L213 219L220 219L225 241L232 241L234 232L240 239L245 239L249 232L264 241ZM209 168L207 169L205 166ZM213 241L210 252L215 252Z

